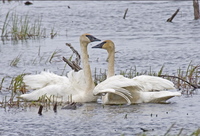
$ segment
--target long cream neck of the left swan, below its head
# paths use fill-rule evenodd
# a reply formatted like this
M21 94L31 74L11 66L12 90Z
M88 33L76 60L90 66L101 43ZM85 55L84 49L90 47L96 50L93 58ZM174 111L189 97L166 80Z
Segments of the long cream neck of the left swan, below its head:
M85 75L87 90L91 91L91 89L93 89L95 87L95 85L94 85L94 82L92 79L92 73L91 73L90 64L89 64L89 55L88 55L88 51L87 51L88 43L80 41L80 44L81 44L81 59L82 59L82 63L83 63L83 71L84 71L84 75Z

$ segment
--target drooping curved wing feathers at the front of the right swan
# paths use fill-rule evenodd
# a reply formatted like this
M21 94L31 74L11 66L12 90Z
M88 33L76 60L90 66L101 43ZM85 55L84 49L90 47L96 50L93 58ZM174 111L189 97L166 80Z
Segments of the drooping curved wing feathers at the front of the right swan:
M127 105L131 104L131 101L128 98L128 96L131 97L131 94L127 90L125 91L125 89L117 89L117 90L115 90L115 89L104 89L104 90L99 90L98 93L96 93L94 95L103 94L103 93L113 93L113 94L119 95L127 101ZM128 95L128 96L126 96L126 95Z

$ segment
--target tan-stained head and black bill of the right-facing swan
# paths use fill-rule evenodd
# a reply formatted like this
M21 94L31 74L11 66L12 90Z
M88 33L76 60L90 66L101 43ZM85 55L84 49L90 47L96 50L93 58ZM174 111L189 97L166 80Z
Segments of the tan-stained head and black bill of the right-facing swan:
M95 42L95 41L101 41L101 40L97 39L96 37L94 37L93 35L88 34L88 33L82 34L80 36L80 42L82 42L82 43L88 44L90 42Z

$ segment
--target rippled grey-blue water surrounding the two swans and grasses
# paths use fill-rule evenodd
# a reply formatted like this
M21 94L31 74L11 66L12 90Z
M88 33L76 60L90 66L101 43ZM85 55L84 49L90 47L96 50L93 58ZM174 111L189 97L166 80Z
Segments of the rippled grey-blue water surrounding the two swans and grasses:
M68 6L70 8L68 8ZM128 8L126 19L124 12ZM166 20L180 8L173 23ZM71 56L65 43L80 51L79 36L91 33L99 39L111 39L116 45L116 73L136 66L139 72L153 69L176 73L188 64L200 64L199 20L193 20L191 1L34 1L31 6L23 2L6 2L0 5L0 27L6 13L12 10L19 15L28 13L33 19L42 16L47 34L51 28L58 31L54 39L27 40L24 42L0 41L0 79L21 73L38 73L49 69L59 75L67 73L62 57ZM104 50L91 49L90 64L94 69L106 69ZM57 56L51 63L54 51ZM17 67L10 66L20 55ZM136 135L141 128L148 135L164 135L175 123L170 134L191 134L200 127L198 115L199 94L170 99L170 104L139 104L131 106L105 106L84 104L75 111L58 109L38 116L37 110L0 109L0 135ZM127 119L125 118L127 116Z

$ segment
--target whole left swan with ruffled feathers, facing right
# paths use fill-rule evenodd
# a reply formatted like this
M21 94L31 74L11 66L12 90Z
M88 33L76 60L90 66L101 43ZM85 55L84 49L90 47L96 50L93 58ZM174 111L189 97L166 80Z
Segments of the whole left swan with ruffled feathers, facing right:
M42 71L37 75L26 75L23 82L28 89L36 89L29 94L22 94L19 98L28 101L37 101L42 96L54 101L69 101L69 95L73 102L92 102L97 100L93 95L95 87L91 69L87 46L90 42L100 41L94 36L86 33L80 36L81 59L83 70L78 72L70 71L67 76L59 76L49 71Z

